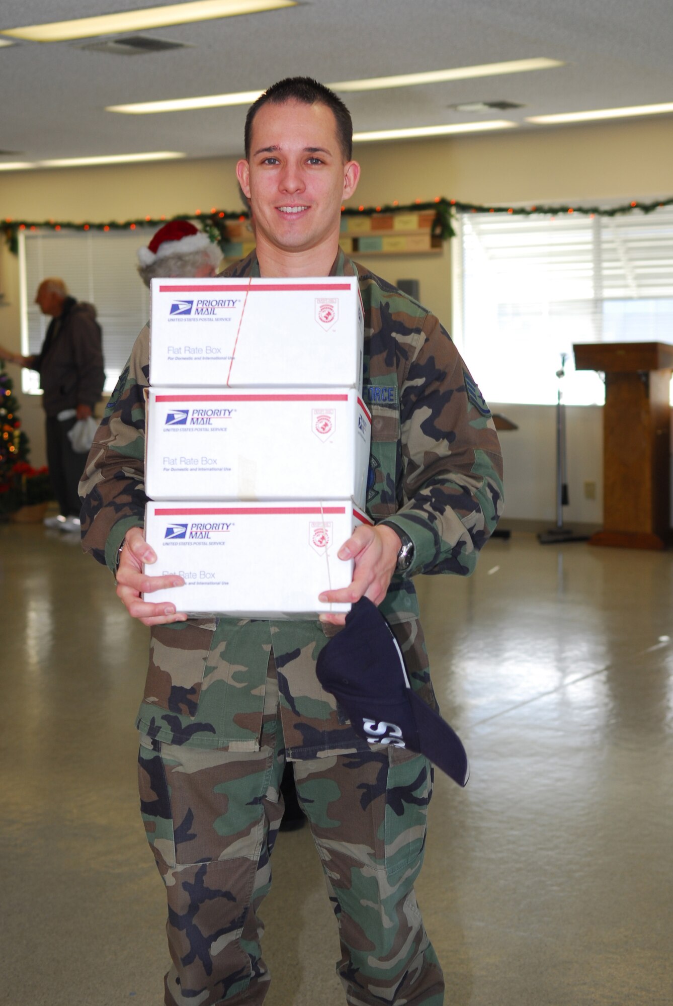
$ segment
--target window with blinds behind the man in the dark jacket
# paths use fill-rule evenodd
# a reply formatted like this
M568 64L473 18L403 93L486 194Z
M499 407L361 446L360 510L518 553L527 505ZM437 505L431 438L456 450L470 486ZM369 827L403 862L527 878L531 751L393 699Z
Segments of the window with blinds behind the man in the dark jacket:
M40 282L64 281L72 297L96 305L103 329L105 391L110 393L136 336L150 317L150 297L136 271L136 253L152 236L151 228L110 231L35 231L19 241L21 351L39 352L50 318L34 303ZM23 371L23 390L39 394L39 374Z

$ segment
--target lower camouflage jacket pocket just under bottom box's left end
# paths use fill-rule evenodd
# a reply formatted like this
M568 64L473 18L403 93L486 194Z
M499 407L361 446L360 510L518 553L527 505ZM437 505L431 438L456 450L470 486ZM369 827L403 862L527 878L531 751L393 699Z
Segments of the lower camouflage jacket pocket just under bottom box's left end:
M193 719L214 629L213 619L152 627L144 702Z

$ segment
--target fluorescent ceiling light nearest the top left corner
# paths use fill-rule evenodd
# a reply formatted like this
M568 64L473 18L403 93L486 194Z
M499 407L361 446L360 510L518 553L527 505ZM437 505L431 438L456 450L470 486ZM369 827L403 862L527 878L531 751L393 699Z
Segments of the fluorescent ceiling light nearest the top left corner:
M236 14L258 14L283 7L295 7L297 0L195 0L191 3L125 10L99 17L80 17L72 21L52 21L49 24L29 24L23 28L0 28L3 35L25 38L31 42L64 42L73 38L110 35L118 31L144 31L166 28L173 24L209 21Z

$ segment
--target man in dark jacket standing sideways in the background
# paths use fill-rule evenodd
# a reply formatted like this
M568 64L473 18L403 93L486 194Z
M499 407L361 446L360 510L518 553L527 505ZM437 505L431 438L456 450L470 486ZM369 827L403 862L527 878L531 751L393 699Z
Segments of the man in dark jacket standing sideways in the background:
M37 370L46 413L46 459L58 516L47 517L48 527L79 531L77 483L86 457L72 450L68 431L77 420L89 418L103 393L101 326L93 304L68 296L62 280L42 280L35 303L51 317L39 353L8 354L13 363Z

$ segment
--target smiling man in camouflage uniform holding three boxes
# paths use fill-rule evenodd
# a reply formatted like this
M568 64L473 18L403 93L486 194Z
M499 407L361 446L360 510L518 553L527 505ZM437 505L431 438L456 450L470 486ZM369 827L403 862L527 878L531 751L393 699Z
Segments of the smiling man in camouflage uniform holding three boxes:
M359 176L345 106L308 78L281 81L251 107L237 173L257 252L224 275L358 278L376 524L339 551L354 559L350 586L321 599L366 595L379 605L412 687L436 707L410 577L472 572L502 508L500 451L488 406L437 318L339 249L340 206ZM344 616L187 619L142 600L182 582L143 571L155 560L141 530L148 339L145 329L92 449L82 533L85 548L117 572L130 614L152 627L139 776L168 894L165 1002L263 1002L258 910L290 759L339 925L347 1002L440 1006L442 970L413 893L432 769L420 754L360 739L321 689L316 658Z

